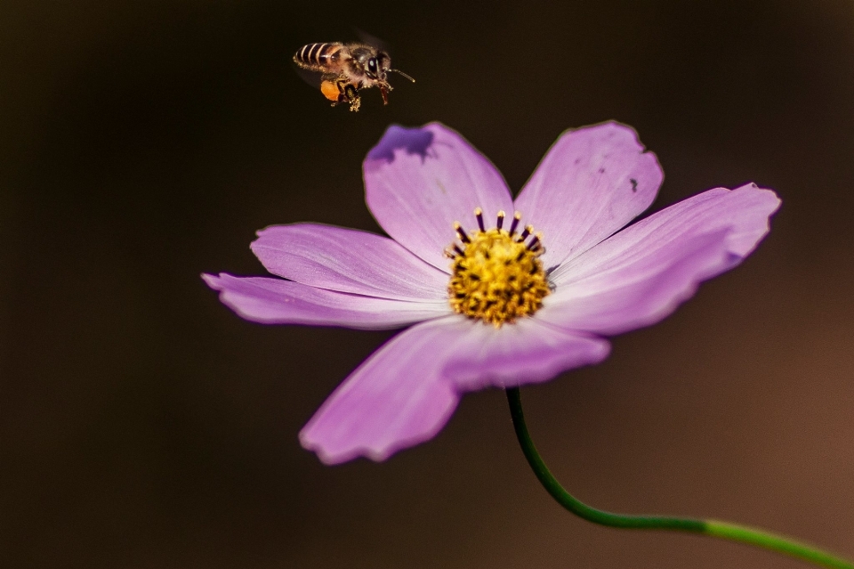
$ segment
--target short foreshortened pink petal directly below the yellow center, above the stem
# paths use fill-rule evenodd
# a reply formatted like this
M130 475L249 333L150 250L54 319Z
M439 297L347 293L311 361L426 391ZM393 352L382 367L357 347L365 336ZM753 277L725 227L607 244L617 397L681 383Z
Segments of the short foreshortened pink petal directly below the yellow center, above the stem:
M511 387L539 383L561 371L599 363L608 357L608 340L523 318L500 329L466 322L445 373L457 388Z

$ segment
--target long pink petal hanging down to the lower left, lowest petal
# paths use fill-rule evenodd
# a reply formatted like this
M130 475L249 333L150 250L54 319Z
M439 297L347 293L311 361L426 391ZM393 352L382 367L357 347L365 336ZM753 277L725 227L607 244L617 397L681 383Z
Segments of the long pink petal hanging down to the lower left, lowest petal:
M446 341L447 325L458 318L424 322L391 338L302 428L302 446L335 464L359 456L384 460L435 436L459 401L439 373L455 349Z

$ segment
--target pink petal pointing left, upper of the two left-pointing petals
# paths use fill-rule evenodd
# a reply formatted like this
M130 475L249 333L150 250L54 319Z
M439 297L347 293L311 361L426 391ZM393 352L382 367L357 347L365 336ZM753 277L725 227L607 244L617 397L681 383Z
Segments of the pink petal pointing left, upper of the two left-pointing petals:
M258 232L252 250L268 271L312 287L447 301L447 272L374 233L318 224L274 225Z

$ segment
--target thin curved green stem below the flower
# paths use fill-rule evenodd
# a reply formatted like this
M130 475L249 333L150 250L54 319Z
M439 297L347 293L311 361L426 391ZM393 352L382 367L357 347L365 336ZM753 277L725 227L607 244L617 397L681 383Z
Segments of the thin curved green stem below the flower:
M624 516L592 508L564 490L557 479L549 472L549 468L545 466L542 457L536 451L534 442L531 440L528 427L525 425L525 416L522 413L522 401L518 387L507 389L507 401L510 402L513 428L516 430L516 437L519 439L522 452L525 453L525 458L528 459L528 464L534 470L534 474L540 480L540 484L543 484L545 490L552 495L552 498L576 516L582 517L594 524L608 525L610 527L700 533L723 540L740 541L747 545L770 549L771 551L777 551L777 553L783 553L792 557L800 557L804 561L809 561L815 565L833 567L834 569L854 569L854 564L841 557L836 557L821 549L816 549L782 535L765 532L745 525L689 517Z

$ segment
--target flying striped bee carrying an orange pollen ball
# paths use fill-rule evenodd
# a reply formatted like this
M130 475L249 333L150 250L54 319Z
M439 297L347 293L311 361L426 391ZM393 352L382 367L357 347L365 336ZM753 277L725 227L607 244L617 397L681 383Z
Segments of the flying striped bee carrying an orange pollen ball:
M399 69L391 69L388 53L367 44L309 44L294 54L294 63L302 69L316 71L320 76L320 93L332 102L350 103L350 110L359 110L359 89L379 87L383 104L389 104L389 72L398 73L415 83Z

